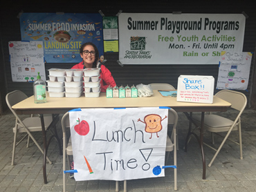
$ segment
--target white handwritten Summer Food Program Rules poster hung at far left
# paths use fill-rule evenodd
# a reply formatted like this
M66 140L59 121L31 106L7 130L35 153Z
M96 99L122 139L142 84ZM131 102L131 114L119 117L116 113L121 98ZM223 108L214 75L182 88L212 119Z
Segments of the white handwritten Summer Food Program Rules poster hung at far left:
M33 82L38 72L46 81L42 41L10 41L9 53L12 81Z

